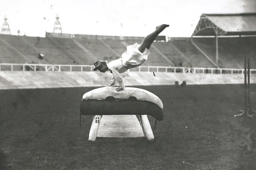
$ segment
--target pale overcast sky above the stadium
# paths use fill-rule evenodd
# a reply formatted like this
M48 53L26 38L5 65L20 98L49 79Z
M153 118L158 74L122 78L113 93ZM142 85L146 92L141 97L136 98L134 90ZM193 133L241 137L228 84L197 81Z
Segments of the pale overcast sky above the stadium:
M169 24L160 35L190 37L203 13L256 12L256 0L7 0L0 6L11 34L45 37L58 14L62 33L146 36Z

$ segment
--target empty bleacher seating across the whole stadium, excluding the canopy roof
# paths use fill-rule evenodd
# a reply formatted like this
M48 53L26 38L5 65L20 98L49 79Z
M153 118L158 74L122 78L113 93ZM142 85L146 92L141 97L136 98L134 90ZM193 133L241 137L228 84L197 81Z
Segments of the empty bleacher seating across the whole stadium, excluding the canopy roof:
M118 59L127 45L142 41L143 37L118 40L0 35L0 62L92 65L97 59ZM193 42L215 61L215 38L193 38ZM251 68L256 68L255 42L256 37L219 38L218 66L243 68L244 56L249 56ZM150 52L143 66L215 67L190 41L184 39L154 42ZM39 59L39 53L44 55L42 59Z

